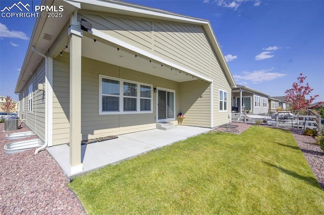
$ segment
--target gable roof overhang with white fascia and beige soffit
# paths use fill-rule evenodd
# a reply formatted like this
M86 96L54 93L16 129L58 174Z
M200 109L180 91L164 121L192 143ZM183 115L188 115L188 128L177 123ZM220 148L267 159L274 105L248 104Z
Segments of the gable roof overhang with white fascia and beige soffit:
M26 81L32 75L32 72L36 69L39 62L42 60L41 56L38 56L31 49L31 46L34 46L36 50L45 54L47 50L51 47L56 37L70 18L73 12L77 10L91 10L105 13L114 13L120 15L128 15L134 17L141 18L150 18L150 19L158 19L164 21L173 21L178 23L186 23L186 24L194 24L199 25L204 28L206 35L211 43L211 47L216 53L216 56L219 60L221 67L225 73L225 76L230 84L230 86L234 87L235 82L229 71L223 53L220 49L219 43L216 39L214 31L211 27L211 24L208 20L193 18L189 16L184 16L164 10L159 10L155 8L149 8L146 6L136 5L132 3L127 3L123 1L115 1L115 0L65 0L65 1L45 1L42 0L41 5L45 6L64 6L64 11L62 12L62 18L60 18L60 22L57 22L55 18L43 18L38 16L32 31L32 35L30 38L30 42L28 45L28 49L26 52L26 56L24 59L24 63L22 65L21 72L19 74L19 78L16 84L15 92L20 92L25 85ZM55 24L54 24L55 23ZM50 33L48 33L50 32ZM41 37L44 34L50 34L53 36L51 41L43 41ZM59 52L57 53L57 55ZM56 57L56 56L55 56Z

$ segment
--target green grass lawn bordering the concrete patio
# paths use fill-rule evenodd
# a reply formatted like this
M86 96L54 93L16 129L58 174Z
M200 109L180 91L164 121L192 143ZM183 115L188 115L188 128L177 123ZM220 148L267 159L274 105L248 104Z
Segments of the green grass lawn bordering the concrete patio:
M289 131L208 133L77 177L88 214L324 214Z

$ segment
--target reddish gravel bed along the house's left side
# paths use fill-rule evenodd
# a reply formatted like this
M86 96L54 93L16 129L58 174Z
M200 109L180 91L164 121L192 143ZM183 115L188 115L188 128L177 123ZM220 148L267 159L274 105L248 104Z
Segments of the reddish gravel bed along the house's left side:
M46 151L35 149L7 155L6 134L0 124L0 214L87 214L55 160ZM34 139L34 137L19 140Z

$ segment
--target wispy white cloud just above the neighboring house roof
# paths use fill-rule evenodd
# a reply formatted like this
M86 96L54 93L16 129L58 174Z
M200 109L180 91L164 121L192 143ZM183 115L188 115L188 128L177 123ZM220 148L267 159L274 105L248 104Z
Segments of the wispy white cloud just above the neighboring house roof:
M264 81L271 81L277 78L286 76L283 73L270 72L272 70L259 70L253 72L242 72L242 75L233 75L234 79L237 79L238 82L251 81L252 83L261 83Z

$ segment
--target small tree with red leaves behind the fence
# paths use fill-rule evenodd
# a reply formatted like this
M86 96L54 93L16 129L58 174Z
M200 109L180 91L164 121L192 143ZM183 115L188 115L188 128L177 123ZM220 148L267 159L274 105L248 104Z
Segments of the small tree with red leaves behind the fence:
M307 106L310 105L319 95L309 95L313 89L310 88L309 84L304 84L307 77L303 76L303 73L297 77L298 82L293 83L293 88L285 91L286 102L291 105L294 110L297 111L297 123L299 124L299 111L306 110ZM309 96L308 96L309 95ZM306 98L308 96L309 98Z

